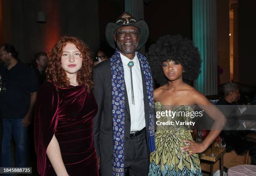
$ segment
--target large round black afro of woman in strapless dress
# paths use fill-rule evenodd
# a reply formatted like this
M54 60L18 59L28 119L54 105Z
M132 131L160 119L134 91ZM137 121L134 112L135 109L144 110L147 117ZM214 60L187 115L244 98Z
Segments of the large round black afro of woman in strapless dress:
M183 66L182 79L186 83L197 79L200 74L201 56L194 43L180 35L162 36L152 44L146 57L156 82L161 86L167 83L162 70L162 63L167 60L178 62Z

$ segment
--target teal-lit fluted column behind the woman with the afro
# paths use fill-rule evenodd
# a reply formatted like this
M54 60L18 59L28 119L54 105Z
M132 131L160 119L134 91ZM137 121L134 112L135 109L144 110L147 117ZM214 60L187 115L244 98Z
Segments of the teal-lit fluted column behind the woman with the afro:
M205 95L218 94L217 85L217 9L216 0L192 0L193 41L202 66L194 87Z

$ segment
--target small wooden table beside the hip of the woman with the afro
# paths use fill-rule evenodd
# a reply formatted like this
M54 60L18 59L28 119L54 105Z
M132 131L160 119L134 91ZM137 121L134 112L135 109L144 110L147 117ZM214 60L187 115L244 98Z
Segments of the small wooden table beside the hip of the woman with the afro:
M210 175L213 176L213 163L220 159L220 176L223 176L223 155L226 153L225 148L212 147L212 153L214 157L210 156L211 148L208 147L203 153L199 154L200 160L210 162Z

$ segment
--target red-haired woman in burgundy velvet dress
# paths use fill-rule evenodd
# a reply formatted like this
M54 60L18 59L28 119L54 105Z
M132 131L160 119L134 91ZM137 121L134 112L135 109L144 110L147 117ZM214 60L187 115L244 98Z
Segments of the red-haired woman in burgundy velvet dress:
M64 36L51 49L48 62L47 82L41 86L35 112L38 172L98 176L89 48L79 38Z

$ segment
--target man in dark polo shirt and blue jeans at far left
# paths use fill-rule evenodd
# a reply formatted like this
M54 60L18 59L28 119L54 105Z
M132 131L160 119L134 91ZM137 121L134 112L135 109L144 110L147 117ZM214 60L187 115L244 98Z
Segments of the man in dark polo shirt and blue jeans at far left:
M12 136L15 140L15 167L26 167L27 126L31 125L33 118L38 82L33 70L18 59L18 52L12 44L0 45L0 63L3 65L0 66L0 112L3 117L1 167L13 167Z

